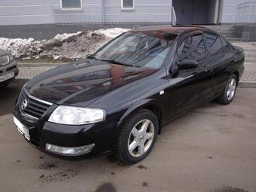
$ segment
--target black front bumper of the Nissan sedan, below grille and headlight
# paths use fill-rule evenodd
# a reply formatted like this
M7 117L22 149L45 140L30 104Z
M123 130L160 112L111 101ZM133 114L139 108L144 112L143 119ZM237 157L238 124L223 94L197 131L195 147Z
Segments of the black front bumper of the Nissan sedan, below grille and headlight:
M53 108L56 106L52 106L48 111ZM29 139L24 138L34 147L47 154L72 157L111 151L116 128L114 124L105 121L81 126L50 123L47 121L50 115L48 111L36 123L29 123L23 119L18 105L14 110L14 117L28 129Z

